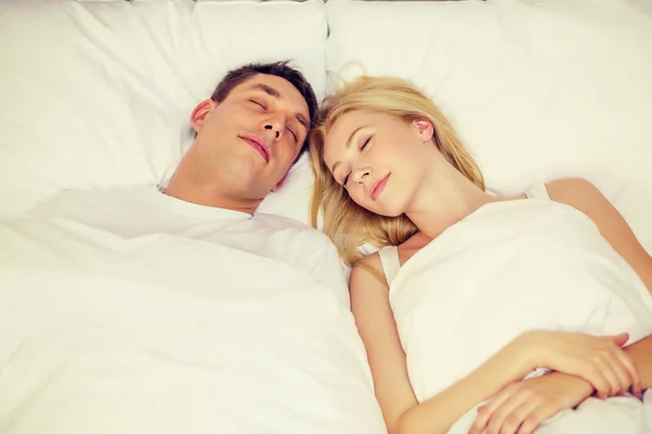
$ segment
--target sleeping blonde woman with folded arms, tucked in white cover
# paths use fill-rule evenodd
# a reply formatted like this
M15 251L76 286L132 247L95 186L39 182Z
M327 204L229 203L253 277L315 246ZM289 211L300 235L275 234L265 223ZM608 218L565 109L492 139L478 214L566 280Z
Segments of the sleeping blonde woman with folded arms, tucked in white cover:
M600 397L628 390L640 395L639 370L649 386L644 354L650 355L650 340L630 346L629 357L620 348L627 335L614 335L634 332L637 336L630 337L638 341L650 334L645 286L652 288L652 259L588 181L560 179L515 197L486 193L479 168L451 125L418 89L397 78L362 77L329 97L311 135L311 155L313 225L323 210L324 231L353 265L352 311L390 433L447 432L490 397L471 432L531 433L593 390ZM380 250L361 258L359 248L367 243ZM541 264L556 268L535 276ZM637 286L632 299L644 298L642 310L636 302L618 307L604 302L612 288L592 279L591 270L607 276L618 291ZM546 279L552 279L553 295L540 282ZM587 333L609 330L601 327L611 317L601 317L594 327L546 316L564 304L555 289L570 293L575 290L568 286L582 279L581 296L591 298L587 304L606 309L607 317L637 318L620 322L630 330L598 337ZM496 299L530 291L538 291L541 303L523 298L531 306L488 317L485 326L497 330L484 334L491 344L469 344L473 356L439 363L451 357L451 348L460 354L460 346L467 345L450 335L461 329L472 334L457 336L485 332L484 324L468 324L496 308L476 304L464 310L474 306L474 297L500 306ZM491 292L494 299L487 297ZM454 322L447 310L455 308L472 315L454 327L446 321L434 326L438 318ZM582 324L591 324L592 315L587 311ZM455 333L442 331L447 327ZM535 367L556 372L538 376ZM517 382L524 378L529 380Z

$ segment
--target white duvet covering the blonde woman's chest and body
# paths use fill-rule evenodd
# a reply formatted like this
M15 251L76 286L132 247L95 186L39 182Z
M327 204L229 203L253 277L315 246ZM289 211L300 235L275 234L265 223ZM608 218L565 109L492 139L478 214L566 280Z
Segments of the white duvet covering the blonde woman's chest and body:
M528 330L626 331L629 343L652 333L652 297L593 222L534 199L485 205L449 228L401 268L390 303L419 401ZM650 432L651 398L589 399L541 432ZM451 432L466 433L474 418Z

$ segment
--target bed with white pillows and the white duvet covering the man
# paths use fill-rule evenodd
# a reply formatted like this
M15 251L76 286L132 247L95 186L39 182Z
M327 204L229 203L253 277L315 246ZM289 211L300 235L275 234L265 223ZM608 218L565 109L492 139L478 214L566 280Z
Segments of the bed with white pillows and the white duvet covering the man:
M652 252L647 1L5 0L0 40L0 433L385 432L348 270L306 226L306 158L259 209L293 221L294 267L89 241L172 176L190 111L247 62L291 60L319 100L409 78L490 191L586 177ZM613 433L629 413L601 414L563 418Z

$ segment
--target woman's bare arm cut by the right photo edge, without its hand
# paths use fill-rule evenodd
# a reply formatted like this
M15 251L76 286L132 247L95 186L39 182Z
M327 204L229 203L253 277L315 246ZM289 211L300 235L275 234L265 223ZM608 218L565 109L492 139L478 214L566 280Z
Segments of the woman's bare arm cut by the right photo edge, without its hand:
M557 179L548 183L553 201L570 205L595 222L600 233L634 268L652 294L652 257L623 218L620 213L586 179ZM625 348L636 363L643 388L652 387L652 336Z

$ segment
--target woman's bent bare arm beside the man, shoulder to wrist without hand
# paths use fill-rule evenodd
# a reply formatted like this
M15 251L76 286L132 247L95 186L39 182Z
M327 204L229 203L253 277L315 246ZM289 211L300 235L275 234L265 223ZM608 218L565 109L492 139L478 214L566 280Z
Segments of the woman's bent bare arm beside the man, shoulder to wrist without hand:
M377 257L371 259L378 261ZM473 406L522 379L535 365L527 342L516 339L466 378L418 405L408 376L389 290L361 267L351 272L350 290L376 398L390 434L446 433Z

